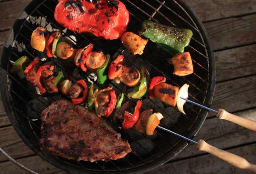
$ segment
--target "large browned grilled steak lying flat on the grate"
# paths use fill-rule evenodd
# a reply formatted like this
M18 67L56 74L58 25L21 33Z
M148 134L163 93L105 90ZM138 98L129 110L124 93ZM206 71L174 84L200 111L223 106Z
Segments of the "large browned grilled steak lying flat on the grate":
M123 158L131 148L106 120L67 100L41 113L41 148L67 159L106 161Z

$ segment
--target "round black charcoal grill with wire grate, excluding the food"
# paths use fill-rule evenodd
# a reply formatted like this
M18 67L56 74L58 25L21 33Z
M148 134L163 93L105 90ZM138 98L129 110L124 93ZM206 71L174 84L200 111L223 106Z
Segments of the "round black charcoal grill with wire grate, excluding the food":
M1 95L8 117L27 146L50 164L68 173L143 173L168 162L188 143L159 129L150 137L129 131L121 132L122 138L127 139L131 144L133 152L123 159L94 163L67 160L54 156L44 149L41 150L39 144L41 121L32 120L24 109L27 102L36 95L27 88L25 81L8 73L12 67L10 60L15 61L23 55L31 60L40 56L30 46L31 33L38 26L45 27L50 32L60 30L64 35L75 35L79 46L93 43L97 49L105 54L109 53L111 57L122 52L127 65L137 68L143 65L150 71L151 78L165 76L167 83L174 86L181 87L186 83L190 86L190 99L205 106L210 106L212 102L215 85L214 56L205 29L191 8L180 0L122 0L122 2L130 12L127 31L137 33L141 22L149 18L162 24L189 28L193 31L190 44L185 48L193 59L192 75L185 77L172 75L173 67L166 61L170 56L152 42L147 44L143 55L134 56L123 48L120 40L103 40L65 29L53 17L57 0L32 0L16 19L4 44L1 55ZM65 71L56 60L53 61ZM86 78L89 74L84 73L81 76ZM118 86L116 87L118 90ZM54 99L49 93L45 96ZM148 96L142 99L146 103L142 109L154 108L163 113L165 118L161 121L161 126L189 138L195 136L207 115L206 110L189 103L184 105L186 115L181 115L177 108L158 100L151 100ZM40 112L38 114L40 115Z

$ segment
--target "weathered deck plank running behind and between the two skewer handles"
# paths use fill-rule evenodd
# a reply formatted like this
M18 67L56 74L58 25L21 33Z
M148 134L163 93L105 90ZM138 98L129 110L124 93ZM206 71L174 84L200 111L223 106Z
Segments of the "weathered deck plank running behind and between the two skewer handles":
M241 117L256 121L256 109L235 113ZM256 133L247 130L239 125L218 118L206 119L202 128L199 130L195 140L205 140L207 143L221 149L239 146L256 142ZM189 158L192 156L206 154L206 152L198 151L194 144L189 144L179 155L171 161Z

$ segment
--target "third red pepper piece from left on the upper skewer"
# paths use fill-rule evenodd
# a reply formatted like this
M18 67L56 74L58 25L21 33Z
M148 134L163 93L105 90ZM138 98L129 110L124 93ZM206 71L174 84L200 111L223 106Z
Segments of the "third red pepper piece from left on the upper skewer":
M110 80L113 80L121 76L123 72L123 69L122 69L123 61L124 61L124 56L119 55L113 62L111 62L108 68L108 78Z

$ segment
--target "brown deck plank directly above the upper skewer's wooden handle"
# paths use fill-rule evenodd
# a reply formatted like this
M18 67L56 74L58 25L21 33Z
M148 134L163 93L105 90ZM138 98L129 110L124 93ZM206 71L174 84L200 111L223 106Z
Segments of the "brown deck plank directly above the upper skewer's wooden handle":
M215 93L211 108L224 108L228 112L256 107L256 75L240 78L232 81L218 83L215 86ZM215 114L209 112L207 117Z

